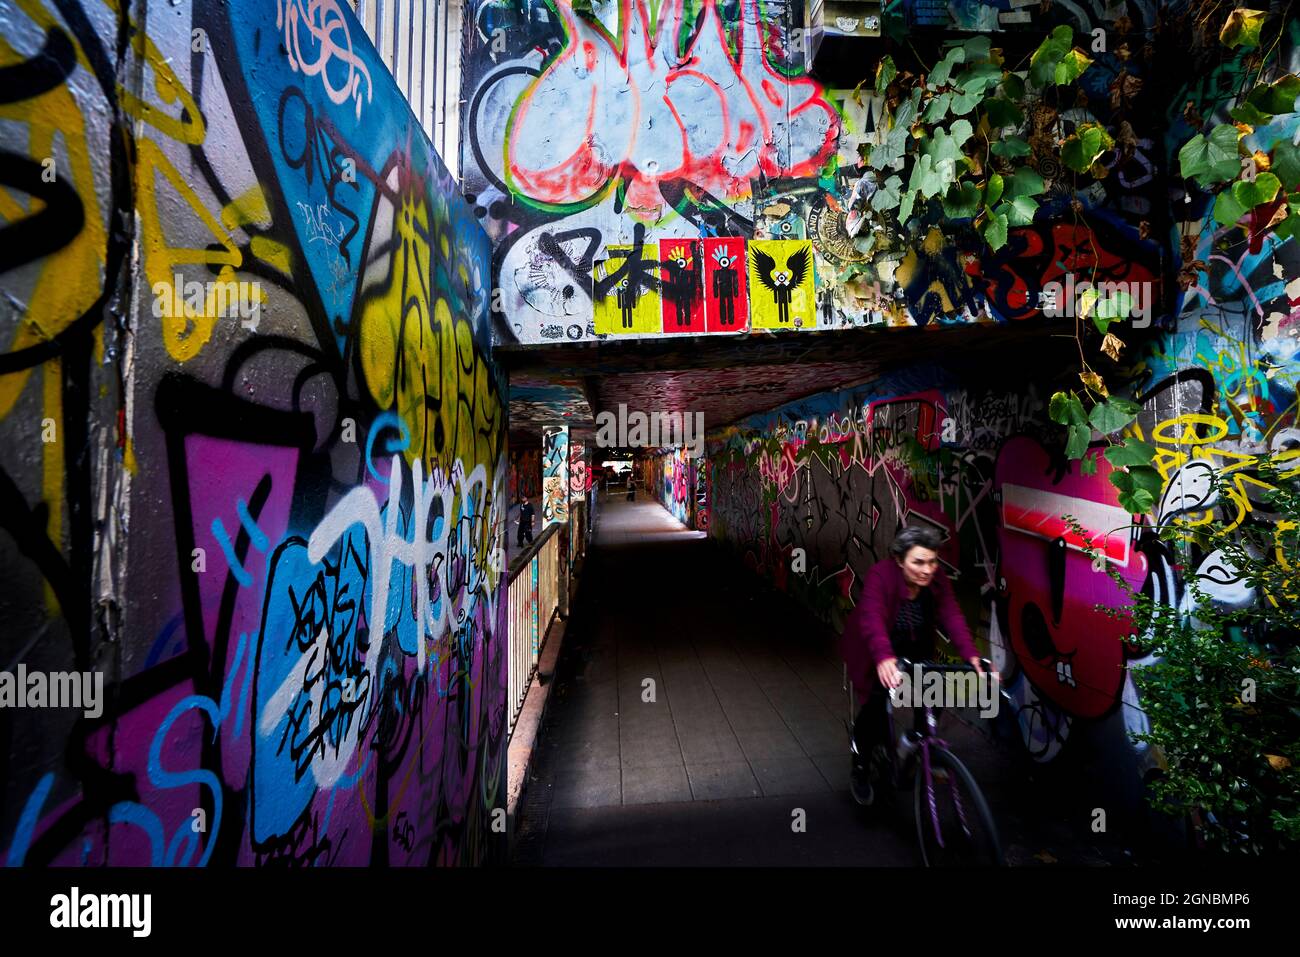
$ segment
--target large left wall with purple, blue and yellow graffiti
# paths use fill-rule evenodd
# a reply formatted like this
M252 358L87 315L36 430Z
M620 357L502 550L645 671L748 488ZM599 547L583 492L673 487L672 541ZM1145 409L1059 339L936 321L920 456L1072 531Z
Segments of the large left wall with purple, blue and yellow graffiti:
M0 64L0 658L105 677L0 710L4 859L489 859L490 246L364 31L23 0Z

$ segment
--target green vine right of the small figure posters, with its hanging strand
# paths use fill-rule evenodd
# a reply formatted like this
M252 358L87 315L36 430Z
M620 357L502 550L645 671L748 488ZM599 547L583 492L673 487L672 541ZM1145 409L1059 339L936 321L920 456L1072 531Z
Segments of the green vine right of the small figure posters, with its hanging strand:
M968 225L996 252L1006 246L1011 228L1034 222L1052 179L1061 181L1070 196L1069 205L1052 212L1078 215L1080 186L1104 178L1102 157L1127 150L1135 139L1127 122L1119 125L1117 140L1101 124L1069 118L1071 109L1087 103L1079 82L1092 62L1070 26L1056 27L1027 62L1009 62L988 36L949 42L932 68L922 64L915 73L884 57L874 88L884 96L890 124L881 142L862 147L870 172L859 190L863 202L850 209L849 233L857 235L870 224L864 250L870 251L875 237ZM1122 75L1113 100L1122 103L1139 86L1136 78ZM1104 337L1101 350L1117 359L1124 343L1110 325L1131 309L1127 291L1100 293L1093 285L1082 296L1076 319L1091 320ZM1096 459L1086 458L1093 430L1119 433L1134 421L1138 406L1112 397L1091 368L1079 321L1075 338L1084 389L1054 395L1049 413L1066 426L1066 455L1082 459L1087 473L1097 468ZM1105 455L1115 465L1110 481L1122 505L1131 512L1148 511L1161 488L1150 465L1154 450L1130 438L1112 442Z

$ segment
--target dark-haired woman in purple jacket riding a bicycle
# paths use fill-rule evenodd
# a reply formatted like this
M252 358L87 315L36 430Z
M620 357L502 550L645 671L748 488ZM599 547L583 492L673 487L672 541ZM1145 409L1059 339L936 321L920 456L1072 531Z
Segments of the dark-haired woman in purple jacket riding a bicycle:
M852 779L861 804L872 800L868 761L875 746L887 744L885 689L902 680L898 658L932 659L937 624L962 661L984 674L953 586L939 567L940 544L931 529L904 528L889 546L890 558L867 572L862 597L844 628L844 662L862 702L853 723Z

